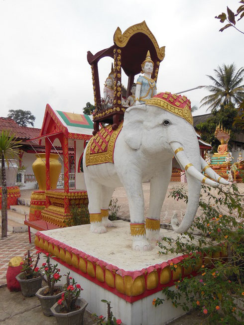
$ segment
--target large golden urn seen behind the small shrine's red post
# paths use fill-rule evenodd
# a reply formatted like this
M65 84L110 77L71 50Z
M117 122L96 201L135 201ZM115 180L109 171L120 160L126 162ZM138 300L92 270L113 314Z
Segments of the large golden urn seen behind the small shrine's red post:
M35 174L35 178L38 182L39 190L46 190L46 154L36 154L36 160L32 164L32 169ZM50 154L50 189L56 189L59 174L61 172L61 163L58 160L59 155L55 153Z

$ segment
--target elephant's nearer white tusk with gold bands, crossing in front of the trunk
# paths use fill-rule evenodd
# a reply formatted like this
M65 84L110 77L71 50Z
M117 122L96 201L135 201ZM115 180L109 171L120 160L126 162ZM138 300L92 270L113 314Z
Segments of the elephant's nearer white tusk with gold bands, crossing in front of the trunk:
M187 158L187 156L184 153L184 148L182 148L179 145L180 145L179 142L176 142L176 141L170 142L170 146L173 149L173 152L174 152L175 156L177 157L177 159L179 160L180 164L185 169L185 172L190 174L192 177L194 177L195 179L197 179L198 181L200 181L202 183L205 183L205 184L213 186L213 187L218 187L219 186L218 182L214 182L214 181L210 180L209 178L207 178L206 176L204 176L203 174L201 174L193 166L193 164L190 163L189 159Z

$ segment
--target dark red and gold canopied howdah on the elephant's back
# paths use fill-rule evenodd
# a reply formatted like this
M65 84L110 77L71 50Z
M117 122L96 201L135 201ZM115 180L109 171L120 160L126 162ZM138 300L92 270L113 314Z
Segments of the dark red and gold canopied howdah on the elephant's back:
M93 55L87 53L87 60L92 68L92 81L94 90L95 110L93 112L94 132L99 131L99 123L112 124L117 129L119 122L123 119L126 107L122 106L122 70L128 76L127 94L130 94L131 86L135 75L141 71L141 63L150 51L151 59L154 62L154 69L151 78L157 80L160 62L165 56L165 46L159 47L152 32L145 21L127 28L123 33L118 27L114 34L114 45ZM103 104L101 98L98 63L104 57L114 59L114 103L112 107Z

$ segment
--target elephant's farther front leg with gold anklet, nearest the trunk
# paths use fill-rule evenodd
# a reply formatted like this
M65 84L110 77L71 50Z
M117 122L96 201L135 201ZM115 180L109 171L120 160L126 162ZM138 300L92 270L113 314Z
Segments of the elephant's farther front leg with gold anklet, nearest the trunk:
M165 177L153 177L150 181L150 202L146 217L146 238L153 242L160 239L160 213L171 177L171 168Z

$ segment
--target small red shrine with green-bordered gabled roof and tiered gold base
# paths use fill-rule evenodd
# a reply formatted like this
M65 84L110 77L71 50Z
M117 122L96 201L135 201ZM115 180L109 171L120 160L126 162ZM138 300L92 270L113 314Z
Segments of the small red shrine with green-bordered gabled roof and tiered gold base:
M32 139L39 145L45 144L46 164L46 190L33 192L30 212L34 217L63 227L66 225L65 219L70 217L70 206L88 205L82 161L84 148L92 137L92 131L93 121L90 116L54 110L47 104L40 136ZM55 146L61 146L63 151L64 189L52 189L50 185L50 154ZM74 188L69 188L69 147L73 147L75 153Z

